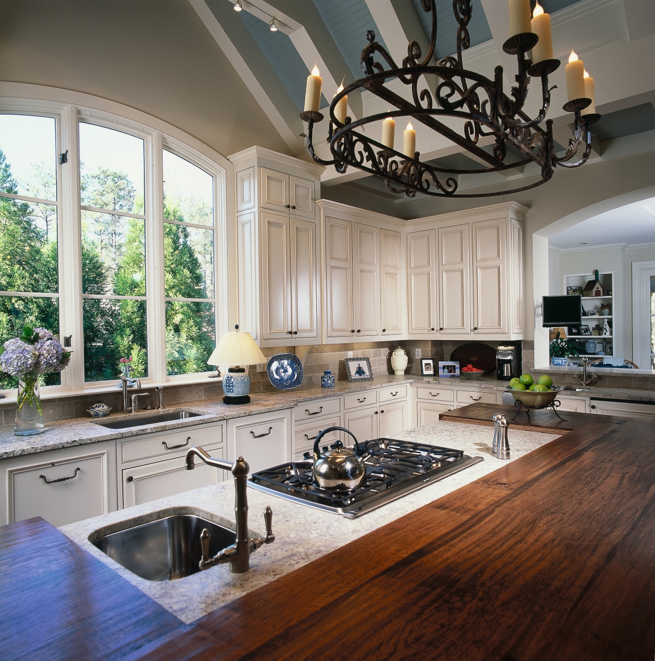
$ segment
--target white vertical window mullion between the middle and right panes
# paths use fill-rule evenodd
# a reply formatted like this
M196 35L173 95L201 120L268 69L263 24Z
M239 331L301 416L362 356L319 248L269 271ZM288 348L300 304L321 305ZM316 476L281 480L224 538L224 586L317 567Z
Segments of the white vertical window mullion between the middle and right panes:
M145 268L147 286L149 375L166 380L166 304L164 302L163 140L155 132L145 162Z

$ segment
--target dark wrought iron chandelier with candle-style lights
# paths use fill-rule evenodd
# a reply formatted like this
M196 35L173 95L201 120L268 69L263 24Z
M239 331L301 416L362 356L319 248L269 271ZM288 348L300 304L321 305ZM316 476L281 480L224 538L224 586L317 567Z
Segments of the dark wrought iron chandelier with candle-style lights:
M527 3L527 29L529 30L529 0L524 1ZM426 13L432 13L430 48L424 59L421 60L420 46L412 41L408 44L408 55L403 59L403 66L398 67L389 53L375 41L375 33L370 30L367 32L369 44L362 51L362 69L366 77L348 85L345 89L340 87L330 103L327 143L330 146L332 160L321 159L315 152L313 143L313 126L323 120L323 114L318 112L321 97L321 88L318 88L318 96L314 94L313 97L316 109L306 109L300 115L301 119L308 124L307 135L303 133L301 136L307 139L307 151L314 161L321 165L334 165L339 173L346 172L348 166L351 165L371 175L381 176L389 190L395 193L405 193L410 197L414 197L417 192L420 192L432 196L467 198L490 197L528 190L550 180L553 176L553 169L558 165L573 168L586 163L591 153L592 124L600 119L600 115L595 112L594 100L585 94L584 83L582 87L579 85L578 87L575 85L568 87L569 98L572 89L578 92L582 89L582 93L580 98L570 98L562 106L565 112L574 113L574 129L566 152L561 157L557 156L553 139L553 120L547 120L545 126L540 125L545 120L551 103L551 91L557 87L555 85L549 87L548 76L559 67L560 61L553 59L551 52L550 58L536 63L532 62L527 54L537 45L539 41L537 34L522 31L514 34L504 43L504 52L516 55L518 60L516 86L512 87L510 95L506 95L503 91L503 69L500 65L494 71L493 80L463 67L462 51L471 45L467 29L472 13L471 0L453 0L453 12L459 24L457 56L443 58L437 65L428 64L432 59L436 44L435 3L434 0L421 0L421 5ZM548 17L548 15L545 16ZM522 25L526 25L525 20ZM550 40L549 17L548 40ZM383 62L376 61L376 54ZM579 64L582 65L582 62L580 61ZM580 70L580 77L582 77L582 70L584 70L584 65ZM313 73L318 75L318 71ZM566 73L568 83L568 67ZM434 91L423 86L424 83L421 82L421 79L424 75L438 77ZM529 117L523 110L532 77L541 79L542 103L535 118ZM308 98L311 78L312 76L308 78L307 84ZM409 86L412 100L406 100L389 89L387 83L396 79ZM320 77L318 80L321 81ZM593 79L591 81L593 83ZM395 110L352 120L346 116L347 95L356 89L368 90ZM573 94L575 95L575 92ZM307 108L307 101L305 108ZM588 114L582 114L585 108L589 109ZM410 154L393 149L393 134L392 146L390 146L389 140L385 144L358 130L367 124L399 117L413 118L424 126L428 126L466 149L476 157L477 161L483 161L486 165L474 169L438 167L421 161L420 153L414 151L412 147L407 149L405 145L404 151L410 151ZM442 118L447 117L463 120L463 134L456 132L441 121ZM481 137L486 136L492 136L490 141L494 145L492 153L482 149L479 144ZM518 161L508 162L508 145L514 147L514 153L517 150L520 153L521 157ZM584 153L574 160L582 147L584 147ZM457 179L451 176L501 172L533 162L541 167L539 180L525 186L506 188L497 192L457 192Z

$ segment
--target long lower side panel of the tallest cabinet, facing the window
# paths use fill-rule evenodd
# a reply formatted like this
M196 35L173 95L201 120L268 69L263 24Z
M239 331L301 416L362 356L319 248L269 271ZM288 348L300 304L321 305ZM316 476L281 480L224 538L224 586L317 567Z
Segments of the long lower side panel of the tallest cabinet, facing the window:
M254 212L237 216L237 264L239 271L239 328L259 340L259 264Z

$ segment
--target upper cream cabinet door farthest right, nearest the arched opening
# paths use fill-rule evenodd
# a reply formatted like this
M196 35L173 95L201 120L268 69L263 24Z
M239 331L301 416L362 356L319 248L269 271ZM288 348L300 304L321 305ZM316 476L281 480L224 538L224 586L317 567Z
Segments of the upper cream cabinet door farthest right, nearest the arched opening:
M473 330L475 334L505 334L507 319L506 219L472 223Z

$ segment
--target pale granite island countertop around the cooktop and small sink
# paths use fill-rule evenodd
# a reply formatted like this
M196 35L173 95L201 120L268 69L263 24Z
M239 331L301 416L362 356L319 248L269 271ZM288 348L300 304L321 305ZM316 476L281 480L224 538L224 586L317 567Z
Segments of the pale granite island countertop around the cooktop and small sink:
M510 430L510 461L547 444L557 436ZM161 510L168 510L167 514L202 514L233 529L231 522L234 518L234 486L231 481L66 525L61 527L61 531L173 615L185 623L190 623L221 605L311 563L508 463L491 454L493 429L475 424L441 421L432 426L397 434L395 438L454 447L471 456L482 456L484 461L354 520L249 488L250 528L259 533L263 531L262 512L266 505L270 505L273 510L273 532L276 540L271 545L262 546L250 557L250 571L245 574L231 574L229 565L222 564L181 580L148 581L112 561L88 539L89 535L98 529L103 529L105 533L124 529L128 527L125 525L128 520L132 525L152 520L157 518L153 517L152 513Z

